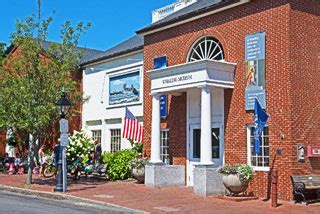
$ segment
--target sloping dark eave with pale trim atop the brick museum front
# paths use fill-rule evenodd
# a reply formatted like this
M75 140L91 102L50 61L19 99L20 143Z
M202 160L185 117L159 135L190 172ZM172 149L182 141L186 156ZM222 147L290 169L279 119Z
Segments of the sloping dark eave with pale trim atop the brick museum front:
M175 19L169 20L167 22L151 25L149 27L143 28L141 30L136 31L137 34L140 34L142 36L146 36L152 33L156 33L159 31L163 31L178 25L182 25L200 18L203 18L205 16L210 16L215 13L219 13L224 10L228 10L237 6L240 6L242 4L246 4L250 2L251 0L231 0L227 2L222 2L217 5L212 5L211 7L205 8L203 10L194 11L185 15L182 15L180 17L177 17ZM213 10L212 10L213 9Z

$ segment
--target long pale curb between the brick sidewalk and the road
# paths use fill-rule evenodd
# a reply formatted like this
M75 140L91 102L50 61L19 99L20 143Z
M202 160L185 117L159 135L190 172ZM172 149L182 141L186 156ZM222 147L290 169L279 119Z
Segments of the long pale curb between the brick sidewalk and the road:
M29 196L32 195L36 197L53 199L53 200L62 200L62 201L65 200L73 203L81 203L83 206L87 206L87 207L91 206L91 207L99 207L102 209L106 209L106 208L117 209L120 212L125 212L125 213L148 213L141 210L131 209L128 207L123 207L123 206L102 202L102 201L95 201L91 199L80 198L73 195L66 195L63 193L52 193L52 192L44 192L39 190L30 190L30 189L6 186L1 184L0 184L0 191L7 191L7 192L18 193L18 194L29 195Z

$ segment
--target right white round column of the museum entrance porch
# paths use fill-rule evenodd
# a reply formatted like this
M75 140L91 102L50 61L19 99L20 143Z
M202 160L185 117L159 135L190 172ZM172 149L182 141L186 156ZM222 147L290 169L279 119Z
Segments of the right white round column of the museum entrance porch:
M201 88L201 142L200 164L210 165L212 162L211 133L211 93L210 87Z

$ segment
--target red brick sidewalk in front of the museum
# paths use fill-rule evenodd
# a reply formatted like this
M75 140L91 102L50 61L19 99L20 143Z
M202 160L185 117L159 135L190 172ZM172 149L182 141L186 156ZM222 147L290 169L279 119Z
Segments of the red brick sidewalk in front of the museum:
M25 185L25 179L26 175L0 175L0 184L46 192L52 192L55 186L53 178L34 176L32 185ZM319 203L303 206L281 202L275 209L271 207L270 201L232 202L197 196L190 187L153 189L134 181L70 180L67 194L151 213L320 213Z

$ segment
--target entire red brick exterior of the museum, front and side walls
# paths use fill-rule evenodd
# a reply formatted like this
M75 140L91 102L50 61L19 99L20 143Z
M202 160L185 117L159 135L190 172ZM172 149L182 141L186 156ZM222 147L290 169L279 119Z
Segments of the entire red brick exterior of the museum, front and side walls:
M319 7L319 1L316 0L304 1L303 5L299 1L252 1L145 37L145 71L153 68L152 60L156 56L167 55L169 66L185 63L190 47L201 36L212 35L220 40L226 61L237 63L234 90L225 91L225 160L226 163L246 163L246 127L253 123L253 114L245 111L244 103L244 39L246 34L266 32L267 112L271 115L268 121L270 167L279 171L280 199L291 198L290 174L309 173L319 165L318 160L311 164L308 160L303 164L297 163L295 147L297 143L319 144L320 105L312 107L320 99L315 90L320 84L320 75L316 75L320 67ZM151 133L149 94L150 79L146 74L144 142L147 154L150 154ZM175 146L170 149L174 150L171 151L173 160L179 159L184 164L186 123L181 117L186 115L185 105L184 96L175 97L168 123L165 121L162 124L172 130L170 143ZM281 150L281 155L275 155L277 149ZM256 172L250 190L260 197L268 197L268 177L267 172Z

